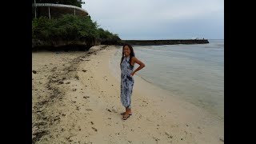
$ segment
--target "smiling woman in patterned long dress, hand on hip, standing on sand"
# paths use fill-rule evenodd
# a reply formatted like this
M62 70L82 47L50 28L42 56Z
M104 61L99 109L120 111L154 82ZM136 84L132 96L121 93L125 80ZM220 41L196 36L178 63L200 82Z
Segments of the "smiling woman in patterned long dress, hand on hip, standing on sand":
M138 63L139 67L134 70L134 63ZM126 107L126 112L121 113L123 120L130 117L131 113L131 94L134 86L134 74L145 67L145 64L135 58L134 49L129 44L122 46L121 67L121 102ZM134 70L134 71L133 71Z

